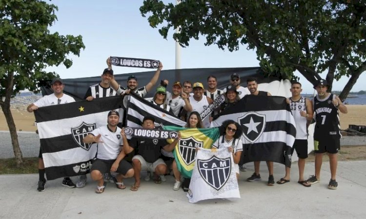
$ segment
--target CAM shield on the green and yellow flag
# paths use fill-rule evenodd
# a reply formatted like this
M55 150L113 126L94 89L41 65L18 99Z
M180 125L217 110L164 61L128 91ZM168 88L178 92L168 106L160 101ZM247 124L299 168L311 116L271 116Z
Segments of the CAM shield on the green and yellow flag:
M196 147L203 147L202 141L197 141L192 136L179 140L179 153L186 165L190 165L196 159Z

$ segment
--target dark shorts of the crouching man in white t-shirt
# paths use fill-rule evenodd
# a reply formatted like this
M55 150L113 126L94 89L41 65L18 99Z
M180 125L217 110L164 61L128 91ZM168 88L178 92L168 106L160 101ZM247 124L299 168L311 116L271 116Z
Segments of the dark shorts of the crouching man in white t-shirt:
M109 173L112 167L112 164L115 160L102 160L96 159L93 161L90 172L93 170L99 170L102 174ZM132 165L125 160L122 160L117 168L117 173L121 173L122 175L126 175L127 171L132 169Z

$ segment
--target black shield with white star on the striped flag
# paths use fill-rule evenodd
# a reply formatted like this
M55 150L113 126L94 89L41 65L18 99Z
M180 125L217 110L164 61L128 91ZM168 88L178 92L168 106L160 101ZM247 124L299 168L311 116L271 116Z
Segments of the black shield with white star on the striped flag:
M238 123L242 126L243 137L254 143L262 135L265 128L265 115L257 112L248 112L238 118Z

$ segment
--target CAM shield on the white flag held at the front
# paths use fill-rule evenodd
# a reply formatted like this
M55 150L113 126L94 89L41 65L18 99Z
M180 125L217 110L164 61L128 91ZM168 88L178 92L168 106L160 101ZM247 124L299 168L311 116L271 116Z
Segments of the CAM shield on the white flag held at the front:
M197 160L198 171L203 180L216 190L220 190L230 176L230 158L220 159L216 156L208 160Z

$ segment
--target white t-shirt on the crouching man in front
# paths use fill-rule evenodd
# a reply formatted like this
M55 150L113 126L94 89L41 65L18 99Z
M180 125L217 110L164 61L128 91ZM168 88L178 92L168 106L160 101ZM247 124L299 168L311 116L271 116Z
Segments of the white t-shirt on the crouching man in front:
M102 126L94 129L90 134L97 136L101 134L100 141L98 143L97 158L102 160L115 160L121 151L123 145L121 128L116 129L115 132L111 131L108 126Z

